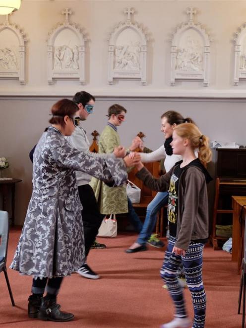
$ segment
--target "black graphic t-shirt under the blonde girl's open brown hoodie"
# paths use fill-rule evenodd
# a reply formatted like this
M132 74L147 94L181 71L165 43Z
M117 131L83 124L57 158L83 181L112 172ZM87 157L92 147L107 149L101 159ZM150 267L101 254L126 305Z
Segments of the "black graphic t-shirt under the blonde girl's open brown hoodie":
M178 187L179 178L184 168L178 165L170 179L169 196L168 196L168 221L170 236L176 237L177 234L177 218L178 218Z

